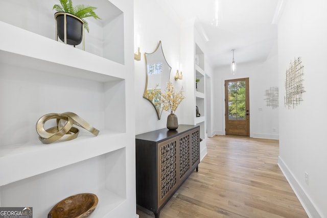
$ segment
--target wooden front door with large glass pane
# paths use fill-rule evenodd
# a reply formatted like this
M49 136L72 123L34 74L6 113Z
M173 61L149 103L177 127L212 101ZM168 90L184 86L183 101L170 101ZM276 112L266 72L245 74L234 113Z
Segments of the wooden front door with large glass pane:
M250 136L249 78L225 80L226 135Z

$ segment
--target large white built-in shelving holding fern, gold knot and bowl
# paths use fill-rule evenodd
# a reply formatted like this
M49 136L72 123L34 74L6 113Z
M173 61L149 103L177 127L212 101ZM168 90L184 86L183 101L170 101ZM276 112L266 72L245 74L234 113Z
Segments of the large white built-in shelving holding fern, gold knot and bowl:
M44 12L45 20L53 18L56 2L36 2L50 8L52 14ZM30 206L34 217L46 217L60 200L92 192L99 198L92 216L136 216L135 134L132 98L127 94L134 84L130 3L92 2L115 17L90 22L90 31L93 27L105 39L99 43L87 35L86 51L55 41L31 24L21 27L17 17L9 24L0 16L0 29L6 33L0 40L1 207ZM2 4L15 7L19 1ZM26 13L22 16L29 21ZM74 140L42 144L37 120L66 111L99 129L99 135L78 127L80 135Z

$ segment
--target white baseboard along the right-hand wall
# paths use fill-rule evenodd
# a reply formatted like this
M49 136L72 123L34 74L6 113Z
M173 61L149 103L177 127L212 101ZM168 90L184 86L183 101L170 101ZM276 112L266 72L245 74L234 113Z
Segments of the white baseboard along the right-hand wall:
M292 172L289 170L280 156L278 156L278 166L282 170L284 176L286 177L288 183L291 185L295 195L302 204L303 208L306 210L308 216L310 218L322 218L310 200L309 196L307 195L306 191L301 187L300 183L293 176Z

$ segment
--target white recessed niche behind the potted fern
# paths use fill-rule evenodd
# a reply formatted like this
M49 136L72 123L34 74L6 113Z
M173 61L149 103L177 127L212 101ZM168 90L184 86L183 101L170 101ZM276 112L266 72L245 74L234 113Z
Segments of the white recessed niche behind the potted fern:
M55 40L55 4L59 0L2 0L0 7L6 10L0 20ZM124 13L108 0L73 1L73 5L79 4L97 7L95 12L101 18L86 18L90 31L85 31L85 51L124 64ZM82 50L82 43L76 48Z

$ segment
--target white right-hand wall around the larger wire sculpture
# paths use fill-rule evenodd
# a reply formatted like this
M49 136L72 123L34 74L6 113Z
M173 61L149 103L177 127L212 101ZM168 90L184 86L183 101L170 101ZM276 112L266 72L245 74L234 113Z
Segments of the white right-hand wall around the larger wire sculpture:
M294 57L304 68L303 102L294 109L279 107L279 166L290 181L310 217L327 217L327 146L325 69L327 2L289 0L278 23L279 87ZM284 102L285 90L279 100ZM309 184L305 182L309 174Z

